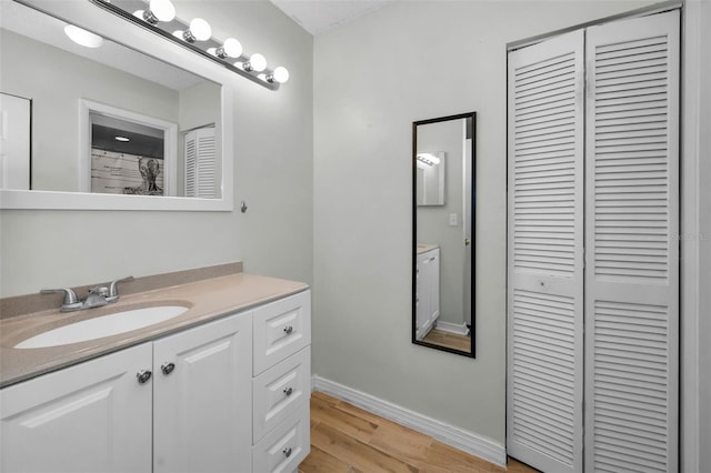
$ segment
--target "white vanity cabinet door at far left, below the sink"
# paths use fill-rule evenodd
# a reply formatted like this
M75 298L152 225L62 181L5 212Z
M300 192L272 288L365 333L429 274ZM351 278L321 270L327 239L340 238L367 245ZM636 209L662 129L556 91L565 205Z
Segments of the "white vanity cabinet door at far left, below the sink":
M0 471L150 471L150 368L147 343L0 391Z

